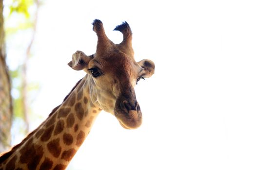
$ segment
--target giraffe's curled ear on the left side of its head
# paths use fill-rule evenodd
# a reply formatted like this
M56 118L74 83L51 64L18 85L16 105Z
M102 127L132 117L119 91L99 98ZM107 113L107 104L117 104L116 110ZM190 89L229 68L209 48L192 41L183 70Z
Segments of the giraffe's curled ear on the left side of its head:
M82 51L77 51L72 55L72 61L68 65L75 70L82 70L88 67L88 63L92 58L93 55L87 56Z

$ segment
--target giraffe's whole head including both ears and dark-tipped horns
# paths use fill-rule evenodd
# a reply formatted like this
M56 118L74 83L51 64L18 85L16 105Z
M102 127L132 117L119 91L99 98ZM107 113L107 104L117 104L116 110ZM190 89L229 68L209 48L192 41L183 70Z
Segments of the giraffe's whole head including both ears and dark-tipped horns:
M102 22L94 20L93 31L98 36L96 53L87 56L77 51L68 65L88 73L91 79L89 94L95 105L115 115L124 128L134 129L142 121L134 86L140 79L154 74L155 64L147 59L135 61L132 32L127 22L114 30L123 34L120 44L109 40Z

